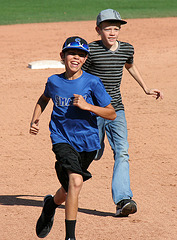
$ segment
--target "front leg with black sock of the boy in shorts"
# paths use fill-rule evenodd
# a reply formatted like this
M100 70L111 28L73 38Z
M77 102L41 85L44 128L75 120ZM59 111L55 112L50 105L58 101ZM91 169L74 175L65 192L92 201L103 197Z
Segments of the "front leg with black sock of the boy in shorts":
M80 174L68 171L69 187L65 203L66 240L75 239L75 225L78 211L78 197L83 184Z

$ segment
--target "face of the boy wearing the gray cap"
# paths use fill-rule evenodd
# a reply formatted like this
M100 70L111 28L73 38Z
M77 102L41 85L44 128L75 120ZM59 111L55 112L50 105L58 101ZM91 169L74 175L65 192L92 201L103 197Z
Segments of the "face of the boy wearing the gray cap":
M119 36L121 25L119 22L105 21L96 27L96 31L101 36L103 44L110 49L115 46Z

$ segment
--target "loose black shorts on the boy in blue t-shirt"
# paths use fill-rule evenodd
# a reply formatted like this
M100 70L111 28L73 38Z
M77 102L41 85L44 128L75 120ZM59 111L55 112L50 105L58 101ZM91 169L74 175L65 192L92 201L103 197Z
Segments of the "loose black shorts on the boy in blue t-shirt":
M93 161L97 151L84 151L79 153L67 143L54 144L52 150L55 153L57 160L55 163L55 170L58 179L66 192L68 191L69 184L67 170L82 175L83 181L92 177L91 173L87 171L87 168Z

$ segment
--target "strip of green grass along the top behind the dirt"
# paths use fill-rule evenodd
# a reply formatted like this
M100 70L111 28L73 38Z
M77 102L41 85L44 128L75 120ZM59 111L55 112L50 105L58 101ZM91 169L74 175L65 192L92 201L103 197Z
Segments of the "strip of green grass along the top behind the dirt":
M0 0L0 25L95 20L106 8L125 19L177 16L177 0Z

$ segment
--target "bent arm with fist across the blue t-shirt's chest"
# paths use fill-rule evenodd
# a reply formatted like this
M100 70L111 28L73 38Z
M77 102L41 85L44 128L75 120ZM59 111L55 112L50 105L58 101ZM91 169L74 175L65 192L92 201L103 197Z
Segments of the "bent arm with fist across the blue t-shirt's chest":
M117 117L116 112L111 104L106 107L95 106L87 103L82 95L74 94L73 105L82 110L93 112L96 115L109 120L114 120Z

